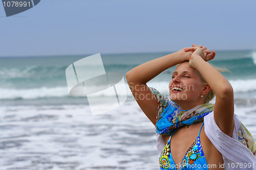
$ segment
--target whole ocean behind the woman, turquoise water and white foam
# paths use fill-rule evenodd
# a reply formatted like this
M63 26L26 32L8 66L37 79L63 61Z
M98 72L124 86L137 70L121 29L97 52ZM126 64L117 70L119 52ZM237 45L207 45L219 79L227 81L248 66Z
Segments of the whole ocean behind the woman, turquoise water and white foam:
M235 113L256 139L256 51L216 52L210 63L231 71L222 74L233 87ZM106 72L125 78L132 68L167 54L101 58ZM66 68L87 56L0 58L0 169L159 169L154 126L127 85L121 92L127 101L96 116L86 97L69 94ZM148 86L167 94L173 71Z

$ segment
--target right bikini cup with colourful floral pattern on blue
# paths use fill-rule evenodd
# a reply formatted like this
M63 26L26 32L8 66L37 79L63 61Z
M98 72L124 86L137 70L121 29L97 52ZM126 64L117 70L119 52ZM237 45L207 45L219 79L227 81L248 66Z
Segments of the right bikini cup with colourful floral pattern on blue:
M188 148L187 152L185 153L185 156L182 160L181 167L185 168L188 164L194 164L194 162L204 157L204 154L202 152L202 147L200 144L200 138L197 137L195 142Z

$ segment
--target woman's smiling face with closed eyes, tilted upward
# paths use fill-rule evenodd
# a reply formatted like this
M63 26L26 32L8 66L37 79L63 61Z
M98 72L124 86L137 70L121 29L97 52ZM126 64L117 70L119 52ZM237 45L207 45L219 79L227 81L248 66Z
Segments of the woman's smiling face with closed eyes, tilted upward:
M169 83L170 100L176 102L186 101L195 104L201 98L204 88L199 72L188 66L188 62L181 63L173 72Z

